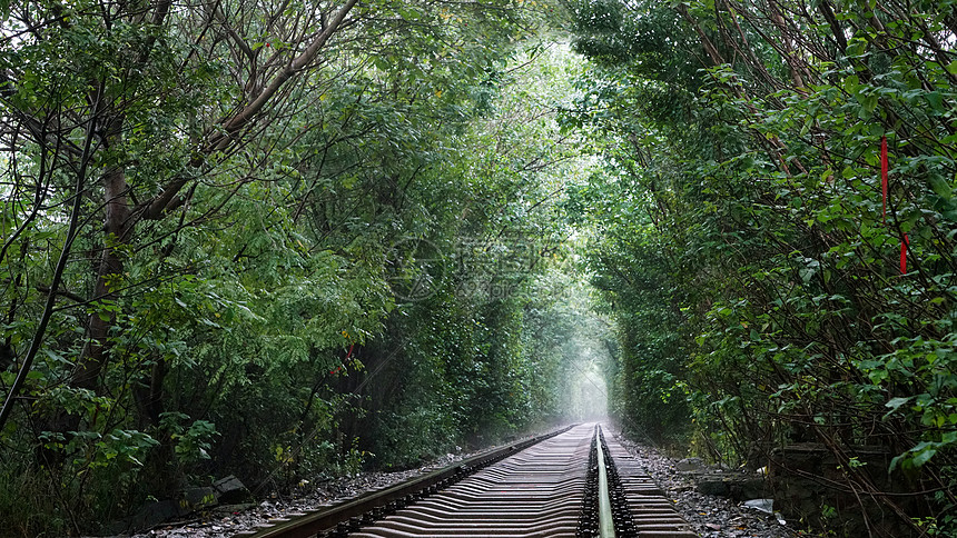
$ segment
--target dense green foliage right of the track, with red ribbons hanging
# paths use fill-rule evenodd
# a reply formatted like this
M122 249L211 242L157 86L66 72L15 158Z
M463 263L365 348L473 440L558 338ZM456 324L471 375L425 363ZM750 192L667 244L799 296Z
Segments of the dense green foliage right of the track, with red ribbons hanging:
M601 132L605 169L570 203L620 328L619 416L756 465L818 442L838 489L954 532L953 4L571 10L594 69L568 122Z

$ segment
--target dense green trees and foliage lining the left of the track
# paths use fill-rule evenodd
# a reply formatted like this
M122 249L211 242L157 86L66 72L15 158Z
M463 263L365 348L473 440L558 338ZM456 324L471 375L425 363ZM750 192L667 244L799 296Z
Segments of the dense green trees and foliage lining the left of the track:
M553 291L578 289L555 201L579 172L543 82L574 66L529 39L551 8L0 11L0 532L576 405L556 340L582 307Z

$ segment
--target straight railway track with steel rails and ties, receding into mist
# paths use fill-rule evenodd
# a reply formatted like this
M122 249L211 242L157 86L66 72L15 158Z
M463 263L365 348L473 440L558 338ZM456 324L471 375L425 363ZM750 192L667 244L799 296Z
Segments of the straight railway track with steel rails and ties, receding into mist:
M638 461L596 425L503 447L254 538L692 538Z

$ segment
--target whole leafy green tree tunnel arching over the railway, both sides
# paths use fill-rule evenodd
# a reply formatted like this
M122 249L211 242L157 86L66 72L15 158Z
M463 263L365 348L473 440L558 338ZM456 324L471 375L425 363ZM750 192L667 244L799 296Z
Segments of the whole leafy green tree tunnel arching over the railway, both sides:
M608 412L957 532L950 0L0 18L4 531Z

